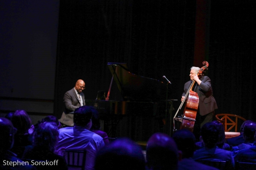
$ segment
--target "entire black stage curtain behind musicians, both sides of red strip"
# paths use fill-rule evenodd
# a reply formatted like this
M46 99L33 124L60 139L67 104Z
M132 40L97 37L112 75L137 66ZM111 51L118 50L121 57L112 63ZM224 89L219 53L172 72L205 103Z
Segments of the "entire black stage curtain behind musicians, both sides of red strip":
M212 1L208 10L206 75L212 80L216 113L255 121L255 2ZM196 0L61 0L55 115L61 116L64 93L77 79L86 83L86 99L108 91L108 62L127 63L132 73L163 82L165 75L172 83L168 98L178 99L173 102L175 113L196 58L195 11ZM110 100L120 99L118 95L111 89Z

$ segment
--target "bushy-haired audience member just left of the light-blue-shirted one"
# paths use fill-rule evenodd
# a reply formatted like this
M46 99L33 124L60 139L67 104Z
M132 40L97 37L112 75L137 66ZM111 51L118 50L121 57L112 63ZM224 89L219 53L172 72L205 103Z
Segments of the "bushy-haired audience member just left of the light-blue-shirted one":
M64 157L54 153L55 146L59 140L58 128L53 122L43 122L35 128L33 133L33 144L27 146L23 159L34 159L42 161L58 160L56 168L67 170L67 163Z

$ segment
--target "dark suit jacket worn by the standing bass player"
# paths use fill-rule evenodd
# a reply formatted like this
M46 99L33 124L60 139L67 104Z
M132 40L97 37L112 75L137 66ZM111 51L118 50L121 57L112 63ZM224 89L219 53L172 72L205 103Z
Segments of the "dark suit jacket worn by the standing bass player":
M211 85L211 79L207 76L203 76L200 79L202 82L200 85L198 85L195 82L194 89L192 91L195 91L198 94L199 98L199 111L200 115L204 116L208 113L211 113L215 109L217 109L217 104L212 96L212 85ZM186 92L189 90L189 87L192 83L192 80L188 81L184 85L184 92L182 96L186 96Z

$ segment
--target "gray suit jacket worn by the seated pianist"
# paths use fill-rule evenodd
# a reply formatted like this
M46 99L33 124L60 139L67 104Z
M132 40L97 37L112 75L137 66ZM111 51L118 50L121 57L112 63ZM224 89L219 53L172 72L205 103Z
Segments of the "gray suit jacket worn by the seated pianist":
M81 97L82 97L83 105L85 105L83 93L81 93ZM76 108L79 108L81 106L78 96L76 95L75 89L72 88L70 91L67 91L64 94L63 100L64 100L65 109L59 121L65 125L74 126L73 113Z

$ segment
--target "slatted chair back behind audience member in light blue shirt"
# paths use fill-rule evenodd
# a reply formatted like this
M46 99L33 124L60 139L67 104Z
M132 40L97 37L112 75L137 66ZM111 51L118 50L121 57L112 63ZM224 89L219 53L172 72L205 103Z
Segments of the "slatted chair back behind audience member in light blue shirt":
M86 150L64 150L64 158L69 170L84 170L86 161Z

